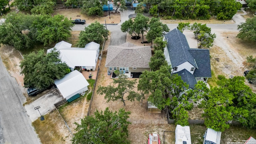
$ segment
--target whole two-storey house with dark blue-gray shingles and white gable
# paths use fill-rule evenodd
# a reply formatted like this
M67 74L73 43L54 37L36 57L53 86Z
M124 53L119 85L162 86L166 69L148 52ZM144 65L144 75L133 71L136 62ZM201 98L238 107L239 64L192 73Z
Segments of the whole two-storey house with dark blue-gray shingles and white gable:
M164 55L172 67L172 74L178 74L182 80L194 88L198 80L212 77L210 52L206 49L190 48L186 36L177 28L164 36L167 42Z

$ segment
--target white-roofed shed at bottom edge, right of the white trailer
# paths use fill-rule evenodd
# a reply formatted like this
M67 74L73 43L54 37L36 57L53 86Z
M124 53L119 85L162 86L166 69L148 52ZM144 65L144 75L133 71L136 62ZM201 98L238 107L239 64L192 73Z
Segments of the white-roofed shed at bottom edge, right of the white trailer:
M207 128L204 134L203 144L220 144L221 132L217 132L211 128Z

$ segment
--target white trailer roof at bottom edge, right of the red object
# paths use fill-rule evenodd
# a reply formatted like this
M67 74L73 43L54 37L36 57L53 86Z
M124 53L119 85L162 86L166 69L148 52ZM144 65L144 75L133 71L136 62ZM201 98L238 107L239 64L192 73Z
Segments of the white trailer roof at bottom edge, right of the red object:
M190 127L177 125L175 129L175 144L191 144Z

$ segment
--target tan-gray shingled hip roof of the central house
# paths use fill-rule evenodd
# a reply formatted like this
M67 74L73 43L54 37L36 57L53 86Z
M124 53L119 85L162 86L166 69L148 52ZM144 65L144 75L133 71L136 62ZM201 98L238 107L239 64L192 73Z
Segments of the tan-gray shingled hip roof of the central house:
M109 46L106 67L149 68L151 58L150 46L136 46L124 43L119 46Z

